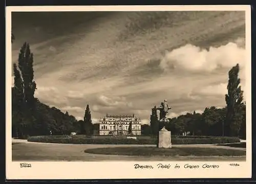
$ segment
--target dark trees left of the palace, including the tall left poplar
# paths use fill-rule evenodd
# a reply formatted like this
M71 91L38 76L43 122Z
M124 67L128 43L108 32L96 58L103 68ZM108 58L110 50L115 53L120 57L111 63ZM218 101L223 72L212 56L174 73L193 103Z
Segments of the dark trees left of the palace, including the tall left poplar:
M12 42L14 36L12 35ZM26 138L33 135L65 135L71 132L92 134L91 112L87 105L84 120L77 121L67 111L41 103L34 97L33 54L30 45L24 43L19 51L18 63L13 64L12 87L12 137Z

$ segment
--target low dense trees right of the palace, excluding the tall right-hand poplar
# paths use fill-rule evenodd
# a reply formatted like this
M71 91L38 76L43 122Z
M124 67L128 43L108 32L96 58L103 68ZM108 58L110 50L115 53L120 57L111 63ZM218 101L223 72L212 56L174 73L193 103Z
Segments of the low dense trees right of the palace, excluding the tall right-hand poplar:
M172 131L173 135L182 135L188 132L188 135L212 135L212 136L228 136L224 134L225 117L227 108L210 107L205 108L201 113L186 113L179 117L169 119L166 124L166 129ZM245 122L245 104L241 109L241 124L237 127L236 133L233 136L240 136L243 139L246 137L246 122ZM151 134L152 126L142 125L142 134ZM158 130L161 127L156 127ZM155 131L156 132L156 131ZM155 133L156 134L156 133Z

